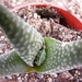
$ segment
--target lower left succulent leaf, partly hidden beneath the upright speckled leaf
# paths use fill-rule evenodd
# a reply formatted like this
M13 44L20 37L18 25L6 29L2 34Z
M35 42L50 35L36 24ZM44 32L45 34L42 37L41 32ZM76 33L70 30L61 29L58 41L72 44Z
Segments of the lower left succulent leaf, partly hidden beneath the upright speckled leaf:
M14 49L0 55L0 77L27 72L30 70L30 67L20 58Z

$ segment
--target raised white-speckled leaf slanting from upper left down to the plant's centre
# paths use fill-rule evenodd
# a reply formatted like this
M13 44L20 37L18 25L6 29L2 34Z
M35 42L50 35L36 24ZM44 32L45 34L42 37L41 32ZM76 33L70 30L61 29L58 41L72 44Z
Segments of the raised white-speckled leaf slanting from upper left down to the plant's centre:
M43 46L42 35L21 17L0 5L0 25L10 42L20 52L20 57L33 67L34 59Z

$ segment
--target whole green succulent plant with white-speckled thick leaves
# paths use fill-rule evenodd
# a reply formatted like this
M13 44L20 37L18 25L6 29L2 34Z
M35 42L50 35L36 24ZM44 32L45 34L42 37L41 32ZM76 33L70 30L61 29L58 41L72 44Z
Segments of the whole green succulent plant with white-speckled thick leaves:
M0 5L0 25L14 49L0 55L0 75L61 72L82 66L82 39L43 37L34 27Z

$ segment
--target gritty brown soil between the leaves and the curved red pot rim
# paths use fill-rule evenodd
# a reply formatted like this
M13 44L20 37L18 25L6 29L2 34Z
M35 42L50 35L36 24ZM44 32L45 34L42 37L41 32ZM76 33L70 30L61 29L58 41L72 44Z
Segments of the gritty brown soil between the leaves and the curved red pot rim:
M15 13L35 27L44 37L52 37L61 42L82 38L81 31L71 27L55 9L50 9L49 7L28 7Z

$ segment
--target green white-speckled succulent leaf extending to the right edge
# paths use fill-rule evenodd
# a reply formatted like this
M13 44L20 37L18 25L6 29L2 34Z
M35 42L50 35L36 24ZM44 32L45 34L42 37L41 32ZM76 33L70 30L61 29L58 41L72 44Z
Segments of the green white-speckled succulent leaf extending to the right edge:
M82 66L82 39L63 43L52 38L45 38L46 60L38 72L62 72Z

